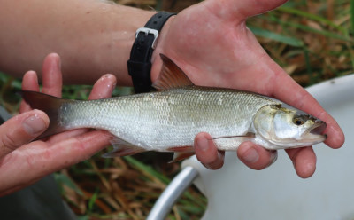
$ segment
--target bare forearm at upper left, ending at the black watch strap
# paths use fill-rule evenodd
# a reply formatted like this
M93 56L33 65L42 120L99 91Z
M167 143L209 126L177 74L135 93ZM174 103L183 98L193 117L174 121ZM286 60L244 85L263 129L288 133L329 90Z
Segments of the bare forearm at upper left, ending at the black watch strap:
M94 83L112 73L131 84L127 59L135 31L154 12L98 0L0 0L0 69L42 75L50 52L62 58L65 83Z

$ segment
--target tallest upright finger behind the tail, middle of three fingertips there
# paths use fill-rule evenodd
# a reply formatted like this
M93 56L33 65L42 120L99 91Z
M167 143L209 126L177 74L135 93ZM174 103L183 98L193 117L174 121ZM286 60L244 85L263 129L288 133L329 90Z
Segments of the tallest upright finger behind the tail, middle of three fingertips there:
M43 61L42 92L61 97L63 86L60 58L57 53L50 53Z

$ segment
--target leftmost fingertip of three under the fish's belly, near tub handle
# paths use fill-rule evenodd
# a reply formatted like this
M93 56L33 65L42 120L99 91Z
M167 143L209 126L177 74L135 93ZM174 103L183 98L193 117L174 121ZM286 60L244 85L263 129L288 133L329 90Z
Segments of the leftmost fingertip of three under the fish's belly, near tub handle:
M224 165L224 152L218 151L212 137L205 132L196 135L194 141L196 158L207 169L220 169Z

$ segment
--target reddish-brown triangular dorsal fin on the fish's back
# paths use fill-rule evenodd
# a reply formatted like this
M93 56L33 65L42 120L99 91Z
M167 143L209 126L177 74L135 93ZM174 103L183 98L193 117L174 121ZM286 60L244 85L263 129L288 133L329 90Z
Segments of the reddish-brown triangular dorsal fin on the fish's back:
M157 90L168 90L182 86L193 85L189 77L171 59L160 53L163 61L158 80L152 84Z

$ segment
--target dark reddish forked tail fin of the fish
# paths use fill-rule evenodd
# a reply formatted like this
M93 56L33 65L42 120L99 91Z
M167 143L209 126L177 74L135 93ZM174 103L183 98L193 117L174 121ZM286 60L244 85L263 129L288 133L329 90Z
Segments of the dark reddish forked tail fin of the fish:
M34 109L42 110L50 118L50 126L47 130L42 133L36 139L46 138L54 134L65 131L59 123L59 111L60 107L66 102L71 102L72 100L66 100L62 98L53 97L47 94L43 94L37 91L22 90L20 92L22 98L25 99L27 104Z

